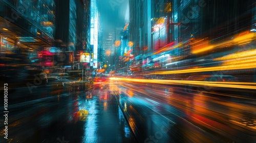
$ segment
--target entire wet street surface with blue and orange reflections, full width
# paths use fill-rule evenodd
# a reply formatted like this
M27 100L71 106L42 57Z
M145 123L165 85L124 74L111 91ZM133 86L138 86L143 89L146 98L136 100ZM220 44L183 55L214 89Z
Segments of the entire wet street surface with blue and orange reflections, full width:
M256 142L253 97L112 81L89 91L34 89L9 95L0 142Z

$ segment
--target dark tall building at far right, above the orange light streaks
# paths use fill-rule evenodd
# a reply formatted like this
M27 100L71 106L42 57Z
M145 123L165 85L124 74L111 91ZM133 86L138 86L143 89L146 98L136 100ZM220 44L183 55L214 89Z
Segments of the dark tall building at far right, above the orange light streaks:
M254 1L177 1L173 0L173 40L176 44L183 43L179 47L179 55L184 58L197 58L207 54L219 52L219 56L239 51L240 46L227 46L221 51L215 49L201 54L193 54L198 50L197 41L202 45L211 45L236 37L245 31L250 31L255 15ZM196 49L195 49L196 47ZM223 55L223 56L224 56Z

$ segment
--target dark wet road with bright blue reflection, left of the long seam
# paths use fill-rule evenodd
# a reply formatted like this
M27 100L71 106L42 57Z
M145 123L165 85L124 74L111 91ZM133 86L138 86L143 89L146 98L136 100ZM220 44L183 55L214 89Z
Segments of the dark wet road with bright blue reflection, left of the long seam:
M8 139L1 124L0 142L136 142L108 86L99 84L93 93L46 89L37 87L38 100L9 100Z

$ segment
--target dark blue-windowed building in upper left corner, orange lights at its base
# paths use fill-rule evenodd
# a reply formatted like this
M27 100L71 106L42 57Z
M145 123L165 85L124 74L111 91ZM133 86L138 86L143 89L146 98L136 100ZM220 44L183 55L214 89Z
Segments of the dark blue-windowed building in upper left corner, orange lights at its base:
M53 44L55 2L0 1L0 21L1 53L27 49L33 55Z

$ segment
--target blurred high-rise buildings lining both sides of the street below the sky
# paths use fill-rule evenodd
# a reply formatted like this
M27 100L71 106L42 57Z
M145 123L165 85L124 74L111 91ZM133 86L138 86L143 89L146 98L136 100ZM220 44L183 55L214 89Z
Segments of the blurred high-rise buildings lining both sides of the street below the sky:
M255 47L248 45L255 40L250 33L256 31L252 0L130 1L129 18L107 37L103 36L98 3L1 1L1 57L44 68L86 69L88 74L96 69L104 74L135 74L179 69L200 58ZM116 10L120 5L110 7ZM251 40L239 38L244 35Z

